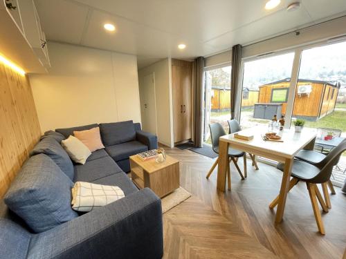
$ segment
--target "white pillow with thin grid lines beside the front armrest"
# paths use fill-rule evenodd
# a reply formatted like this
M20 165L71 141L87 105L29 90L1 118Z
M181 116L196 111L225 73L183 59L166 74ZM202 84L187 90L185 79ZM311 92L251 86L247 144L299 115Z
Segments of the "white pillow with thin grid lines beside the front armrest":
M118 186L75 182L71 204L75 211L91 211L124 197L124 192Z

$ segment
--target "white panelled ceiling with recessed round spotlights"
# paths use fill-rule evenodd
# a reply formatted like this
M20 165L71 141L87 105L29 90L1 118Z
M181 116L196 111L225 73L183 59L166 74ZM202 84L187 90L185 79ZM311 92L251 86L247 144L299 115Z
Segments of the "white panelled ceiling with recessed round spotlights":
M138 56L138 68L165 57L193 59L346 15L346 0L35 0L47 39ZM113 23L116 32L103 29ZM177 45L184 43L185 50Z

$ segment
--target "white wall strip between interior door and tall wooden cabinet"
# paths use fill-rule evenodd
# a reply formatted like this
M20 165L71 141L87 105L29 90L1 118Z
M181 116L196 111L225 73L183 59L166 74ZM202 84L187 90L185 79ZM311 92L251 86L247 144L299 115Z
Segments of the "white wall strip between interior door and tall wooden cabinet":
M172 117L172 61L170 58L138 70L139 91L143 86L143 77L154 73L156 123L158 142L174 146Z

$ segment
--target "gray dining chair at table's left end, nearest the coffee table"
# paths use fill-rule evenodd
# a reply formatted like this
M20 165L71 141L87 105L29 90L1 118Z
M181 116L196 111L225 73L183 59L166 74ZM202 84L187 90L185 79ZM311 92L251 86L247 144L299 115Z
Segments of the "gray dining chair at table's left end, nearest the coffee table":
M212 140L212 150L219 154L219 138L226 135L226 132L221 124L214 123L209 124L210 128L210 138ZM239 157L245 157L245 153L242 151L239 151L234 148L228 148L228 169L227 169L227 177L228 177L228 190L230 190L230 162L233 161L235 163L235 168L237 169L239 175L242 177L242 180L244 180L244 175L242 174L242 171L240 171L239 166L237 164L237 158ZM208 179L210 175L212 174L212 171L214 171L215 166L219 163L219 157L217 157L217 160L212 165L212 168L208 172L208 175L206 178ZM246 163L244 163L244 169L246 169ZM246 177L246 176L245 176Z

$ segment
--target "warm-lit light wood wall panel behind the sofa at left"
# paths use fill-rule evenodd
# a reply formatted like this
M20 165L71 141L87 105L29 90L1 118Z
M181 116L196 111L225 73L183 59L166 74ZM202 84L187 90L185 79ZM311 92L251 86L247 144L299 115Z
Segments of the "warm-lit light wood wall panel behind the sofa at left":
M0 63L0 197L40 135L28 78Z

